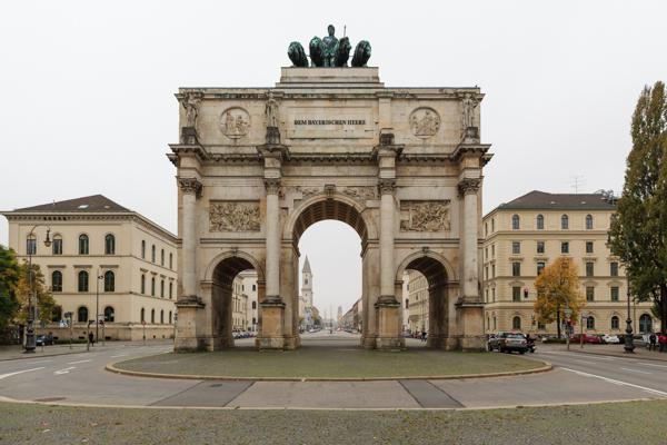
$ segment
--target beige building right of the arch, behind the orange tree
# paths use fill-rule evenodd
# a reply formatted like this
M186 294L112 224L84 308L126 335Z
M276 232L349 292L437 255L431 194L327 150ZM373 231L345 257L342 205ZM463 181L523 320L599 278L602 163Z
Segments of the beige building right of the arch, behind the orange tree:
M530 191L501 204L482 219L485 330L555 334L556 324L537 322L535 279L559 256L579 270L584 317L576 330L621 334L627 318L627 279L611 255L607 233L616 210L601 194ZM650 303L633 304L635 333L651 330ZM583 320L583 323L581 323ZM580 324L581 323L581 324Z

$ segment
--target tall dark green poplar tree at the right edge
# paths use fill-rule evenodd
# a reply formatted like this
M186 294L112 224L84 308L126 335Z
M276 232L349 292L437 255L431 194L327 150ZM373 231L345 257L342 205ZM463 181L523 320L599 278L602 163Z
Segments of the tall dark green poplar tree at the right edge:
M658 306L667 332L667 101L665 85L645 87L633 115L633 149L611 220L611 253L620 258L639 301Z

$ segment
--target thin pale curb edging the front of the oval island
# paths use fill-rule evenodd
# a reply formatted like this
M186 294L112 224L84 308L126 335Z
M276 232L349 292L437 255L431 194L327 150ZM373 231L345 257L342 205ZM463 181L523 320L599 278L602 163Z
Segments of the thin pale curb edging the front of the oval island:
M394 376L394 377L241 377L241 376L212 376L198 374L165 374L146 373L141 370L121 369L115 365L120 363L110 363L104 366L106 370L115 374L129 375L135 377L152 378L172 378L186 380L237 380L237 382L387 382L387 380L455 380L465 378L486 378L486 377L510 377L527 374L546 373L552 369L550 363L545 360L535 360L542 363L542 366L532 369L506 370L502 373L486 374L454 374L444 376Z

